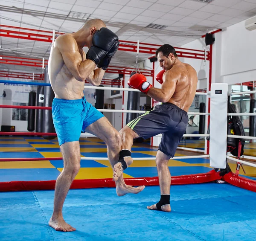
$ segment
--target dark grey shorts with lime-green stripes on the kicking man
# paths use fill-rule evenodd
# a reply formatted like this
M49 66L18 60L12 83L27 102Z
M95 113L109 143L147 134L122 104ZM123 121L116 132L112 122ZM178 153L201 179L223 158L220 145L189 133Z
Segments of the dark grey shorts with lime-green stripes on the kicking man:
M188 115L172 103L156 105L153 110L137 117L127 126L143 139L162 133L158 150L169 157L174 157L178 144L186 131Z

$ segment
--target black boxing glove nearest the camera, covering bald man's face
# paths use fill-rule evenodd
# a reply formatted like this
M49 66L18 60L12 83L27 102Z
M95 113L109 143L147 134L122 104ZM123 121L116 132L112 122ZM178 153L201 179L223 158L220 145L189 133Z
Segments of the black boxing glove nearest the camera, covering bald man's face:
M97 30L93 35L93 46L88 50L86 58L94 61L95 64L99 64L117 41L117 35L110 29L101 28Z

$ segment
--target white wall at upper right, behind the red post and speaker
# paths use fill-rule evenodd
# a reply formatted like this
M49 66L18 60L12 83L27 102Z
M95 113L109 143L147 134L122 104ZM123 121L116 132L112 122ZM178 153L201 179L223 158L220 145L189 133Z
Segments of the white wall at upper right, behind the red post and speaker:
M212 83L221 82L231 85L256 80L256 30L248 31L244 24L245 20L214 35ZM204 49L204 38L181 47ZM201 79L198 60L185 58L184 61L198 71L198 78ZM208 77L209 61L202 69L206 71L206 77Z

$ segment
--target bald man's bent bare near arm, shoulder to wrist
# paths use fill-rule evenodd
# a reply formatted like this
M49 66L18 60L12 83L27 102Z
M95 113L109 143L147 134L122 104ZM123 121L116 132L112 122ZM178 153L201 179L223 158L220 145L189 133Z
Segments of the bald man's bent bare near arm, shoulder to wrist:
M96 64L90 59L83 61L76 41L71 35L60 36L56 44L70 73L78 81L85 81L93 72Z

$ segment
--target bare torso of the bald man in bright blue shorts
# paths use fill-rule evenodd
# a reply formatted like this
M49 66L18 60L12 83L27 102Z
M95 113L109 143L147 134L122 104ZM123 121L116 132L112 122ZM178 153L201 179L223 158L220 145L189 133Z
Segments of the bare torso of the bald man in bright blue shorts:
M61 36L60 36L61 37ZM58 38L60 38L58 37ZM58 99L81 99L84 96L84 81L77 81L70 73L64 63L59 48L58 38L55 40L48 61L49 80L52 90L55 93L55 98ZM68 48L68 44L67 44ZM83 49L77 45L82 61L86 59Z

